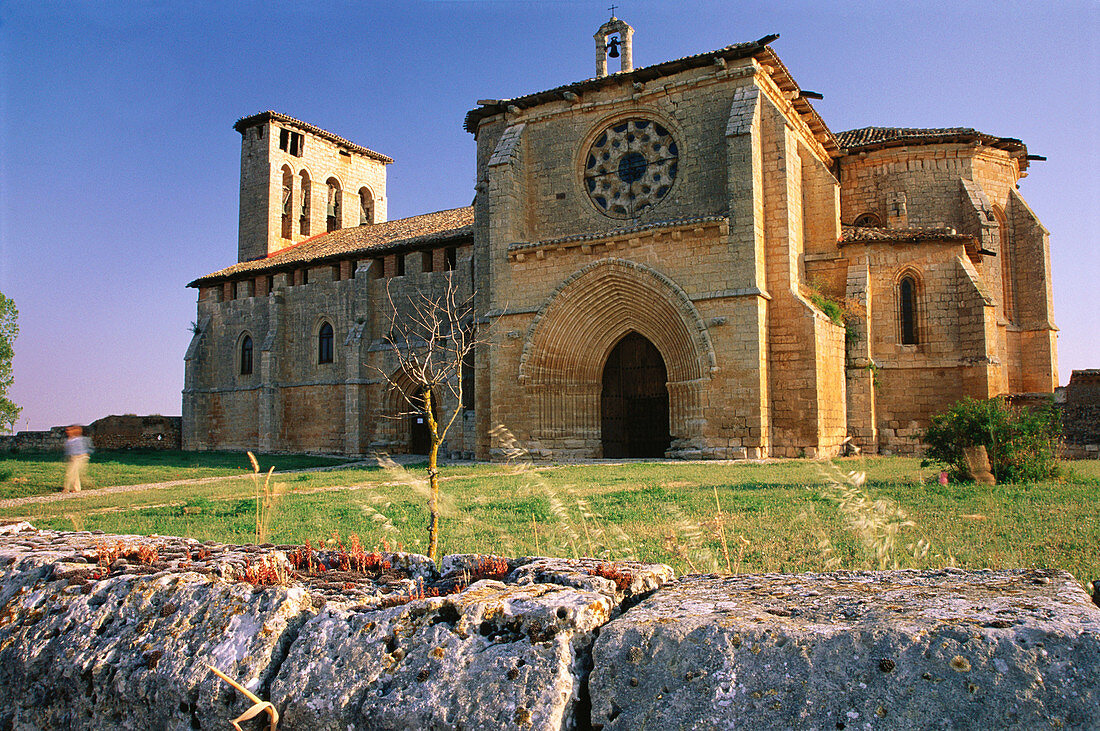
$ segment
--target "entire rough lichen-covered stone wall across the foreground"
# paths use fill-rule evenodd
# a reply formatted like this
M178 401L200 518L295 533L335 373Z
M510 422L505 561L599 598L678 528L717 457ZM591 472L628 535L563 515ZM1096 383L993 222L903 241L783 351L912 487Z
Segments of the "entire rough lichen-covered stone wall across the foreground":
M286 553L0 533L0 728L227 728L251 702L208 665L284 730L1085 729L1100 707L1100 610L1059 572L497 558L477 579L483 556L440 576L386 554L373 578L254 586Z

